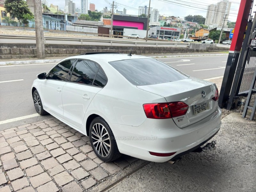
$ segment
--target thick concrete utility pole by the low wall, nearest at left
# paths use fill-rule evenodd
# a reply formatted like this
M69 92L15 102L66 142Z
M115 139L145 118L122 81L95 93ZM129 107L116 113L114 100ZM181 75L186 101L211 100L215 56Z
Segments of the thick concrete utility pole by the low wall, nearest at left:
M44 53L44 29L41 0L34 0L35 28L36 28L36 53L38 59L45 58Z

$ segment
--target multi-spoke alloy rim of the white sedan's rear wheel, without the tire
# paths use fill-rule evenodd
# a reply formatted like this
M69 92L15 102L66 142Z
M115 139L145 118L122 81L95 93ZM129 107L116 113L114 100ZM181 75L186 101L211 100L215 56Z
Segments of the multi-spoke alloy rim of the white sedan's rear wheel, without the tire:
M111 143L107 129L104 125L96 123L92 127L91 132L92 144L97 153L106 157L110 153Z

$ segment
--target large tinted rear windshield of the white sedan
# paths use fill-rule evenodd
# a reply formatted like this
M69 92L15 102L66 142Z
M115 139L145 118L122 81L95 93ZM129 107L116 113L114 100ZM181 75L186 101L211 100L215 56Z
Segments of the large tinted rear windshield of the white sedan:
M188 78L180 71L155 59L130 59L109 62L134 85L152 85Z

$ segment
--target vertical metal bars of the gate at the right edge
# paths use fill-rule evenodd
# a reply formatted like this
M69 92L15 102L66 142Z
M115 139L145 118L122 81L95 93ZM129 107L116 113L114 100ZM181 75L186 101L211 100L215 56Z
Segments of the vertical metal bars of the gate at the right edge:
M244 68L241 72L241 84L238 94L244 94L249 92L252 83L252 77L254 71L256 70L256 50L253 50L251 47L248 48L243 66ZM256 84L254 85L254 88L256 88Z

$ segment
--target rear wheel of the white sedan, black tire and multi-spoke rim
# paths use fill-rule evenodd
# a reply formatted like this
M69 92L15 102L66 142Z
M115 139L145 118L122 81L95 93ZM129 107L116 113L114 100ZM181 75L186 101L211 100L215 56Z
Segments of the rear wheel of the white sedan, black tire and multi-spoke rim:
M89 137L94 153L102 161L114 161L122 155L117 148L112 130L103 118L96 117L92 120Z

